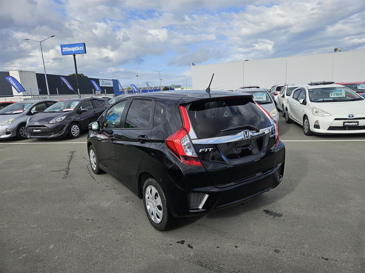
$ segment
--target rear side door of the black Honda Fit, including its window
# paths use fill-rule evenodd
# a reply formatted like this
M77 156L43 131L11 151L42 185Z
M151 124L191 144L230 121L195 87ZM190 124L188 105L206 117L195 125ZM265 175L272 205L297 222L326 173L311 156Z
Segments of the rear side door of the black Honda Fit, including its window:
M124 126L116 135L119 180L132 190L135 189L139 164L151 145L154 107L154 100L130 99Z

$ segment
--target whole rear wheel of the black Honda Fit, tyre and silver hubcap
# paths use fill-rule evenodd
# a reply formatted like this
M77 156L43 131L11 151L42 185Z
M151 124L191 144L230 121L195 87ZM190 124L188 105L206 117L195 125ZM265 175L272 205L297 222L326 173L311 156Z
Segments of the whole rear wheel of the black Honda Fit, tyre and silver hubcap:
M143 203L147 218L155 229L164 231L176 224L177 218L170 212L164 191L153 178L148 178L143 185Z

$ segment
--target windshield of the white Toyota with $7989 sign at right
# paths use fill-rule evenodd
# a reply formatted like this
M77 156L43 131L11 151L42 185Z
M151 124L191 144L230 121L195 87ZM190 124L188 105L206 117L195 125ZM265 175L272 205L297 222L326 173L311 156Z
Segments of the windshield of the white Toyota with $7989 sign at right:
M325 87L308 89L311 102L349 102L360 100L360 96L346 87Z

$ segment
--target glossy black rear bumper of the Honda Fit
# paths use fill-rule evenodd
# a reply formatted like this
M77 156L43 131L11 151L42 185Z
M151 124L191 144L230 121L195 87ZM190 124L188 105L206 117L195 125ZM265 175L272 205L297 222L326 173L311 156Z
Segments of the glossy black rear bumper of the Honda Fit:
M210 185L189 188L188 191L183 192L180 187L178 196L169 196L168 205L174 216L187 217L206 214L210 211L246 202L278 186L283 179L284 165L285 147L281 143L277 150L275 167L260 177L223 188ZM172 182L169 185L174 184Z

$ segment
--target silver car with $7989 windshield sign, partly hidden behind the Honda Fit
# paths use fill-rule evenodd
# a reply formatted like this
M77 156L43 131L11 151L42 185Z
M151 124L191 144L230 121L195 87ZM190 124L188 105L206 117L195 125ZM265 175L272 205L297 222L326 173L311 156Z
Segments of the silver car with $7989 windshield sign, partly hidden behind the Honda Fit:
M238 88L236 92L245 92L247 94L253 95L253 100L260 104L262 108L266 110L270 114L270 116L276 121L279 122L279 115L275 107L274 100L269 95L268 91L265 88L253 88L253 89L241 89Z

